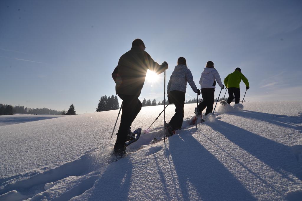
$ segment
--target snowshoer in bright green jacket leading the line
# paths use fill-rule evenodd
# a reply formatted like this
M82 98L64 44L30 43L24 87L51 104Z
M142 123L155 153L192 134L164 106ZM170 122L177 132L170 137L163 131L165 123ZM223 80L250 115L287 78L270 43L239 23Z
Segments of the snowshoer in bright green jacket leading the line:
M228 89L228 93L229 93L229 98L226 101L229 105L233 101L234 96L235 96L235 104L239 103L239 99L240 99L239 83L241 82L241 80L246 84L246 89L248 90L249 81L241 73L240 68L236 68L233 73L228 74L228 76L226 76L226 78L223 80L224 85Z

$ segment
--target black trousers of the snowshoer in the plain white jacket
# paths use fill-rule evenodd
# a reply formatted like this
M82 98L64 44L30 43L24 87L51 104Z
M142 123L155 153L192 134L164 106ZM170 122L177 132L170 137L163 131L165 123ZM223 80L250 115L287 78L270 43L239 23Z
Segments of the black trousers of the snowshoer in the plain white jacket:
M198 110L201 112L207 107L206 115L213 111L214 105L214 88L201 89L201 96L203 101L198 105Z

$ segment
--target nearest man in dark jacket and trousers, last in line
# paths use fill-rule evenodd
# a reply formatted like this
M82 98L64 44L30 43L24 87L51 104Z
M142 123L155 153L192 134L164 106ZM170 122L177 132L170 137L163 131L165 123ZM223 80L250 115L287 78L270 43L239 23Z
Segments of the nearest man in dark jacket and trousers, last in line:
M142 108L138 99L143 88L147 70L162 73L168 69L167 62L159 65L145 52L145 44L141 39L132 42L132 48L120 57L117 67L112 73L115 81L116 94L123 100L120 127L114 145L114 154L126 154L126 141L128 133L131 137L130 126Z

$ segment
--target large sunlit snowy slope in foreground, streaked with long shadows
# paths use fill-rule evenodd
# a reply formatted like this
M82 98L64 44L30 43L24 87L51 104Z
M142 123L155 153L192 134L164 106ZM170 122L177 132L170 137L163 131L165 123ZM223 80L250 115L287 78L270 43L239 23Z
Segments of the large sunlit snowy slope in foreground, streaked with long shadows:
M302 103L243 105L218 104L195 132L196 104L186 104L186 128L153 144L162 114L117 162L118 110L1 126L0 200L301 200ZM147 129L162 109L143 107L132 127Z

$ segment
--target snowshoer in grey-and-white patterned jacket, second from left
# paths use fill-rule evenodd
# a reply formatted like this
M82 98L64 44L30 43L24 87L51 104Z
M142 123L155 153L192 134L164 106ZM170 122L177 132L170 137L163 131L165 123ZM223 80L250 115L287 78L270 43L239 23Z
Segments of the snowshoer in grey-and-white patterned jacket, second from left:
M166 130L169 132L167 134L173 135L174 130L182 127L187 83L195 93L200 95L200 90L196 87L192 73L187 67L186 59L179 57L167 87L169 103L174 103L176 107L174 116L168 124L165 124Z

